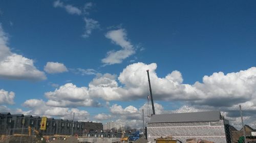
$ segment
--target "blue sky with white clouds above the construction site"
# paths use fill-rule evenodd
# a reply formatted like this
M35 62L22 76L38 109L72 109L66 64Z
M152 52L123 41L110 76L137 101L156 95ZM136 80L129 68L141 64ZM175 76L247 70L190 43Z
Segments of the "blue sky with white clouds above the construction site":
M34 111L32 103L51 108L51 100L57 109L88 112L110 111L114 104L139 109L147 102L150 69L155 101L164 109L254 106L255 6L255 1L1 1L1 46L11 53L0 55L0 62L16 54L33 64L11 67L13 73L0 65L0 105L42 115L47 113ZM61 90L66 83L79 92ZM245 83L248 89L238 88ZM217 104L230 96L228 105ZM78 105L85 100L87 105Z

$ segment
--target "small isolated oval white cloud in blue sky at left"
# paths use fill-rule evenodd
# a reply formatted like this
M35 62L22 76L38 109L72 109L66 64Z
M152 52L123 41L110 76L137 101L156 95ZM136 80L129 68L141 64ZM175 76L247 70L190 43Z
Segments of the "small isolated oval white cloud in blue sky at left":
M47 73L62 73L68 71L67 67L64 64L58 62L47 62L44 70Z

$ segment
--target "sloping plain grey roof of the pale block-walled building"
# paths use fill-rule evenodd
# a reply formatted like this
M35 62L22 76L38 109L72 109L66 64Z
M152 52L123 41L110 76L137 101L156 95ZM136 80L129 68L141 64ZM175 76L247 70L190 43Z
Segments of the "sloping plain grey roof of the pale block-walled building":
M149 123L214 122L220 120L220 111L203 111L153 115Z

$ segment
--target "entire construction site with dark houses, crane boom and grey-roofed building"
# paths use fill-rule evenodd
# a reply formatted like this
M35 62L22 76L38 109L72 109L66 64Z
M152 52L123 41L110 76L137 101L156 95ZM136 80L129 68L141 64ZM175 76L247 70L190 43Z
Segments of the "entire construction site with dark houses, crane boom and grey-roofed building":
M111 118L111 122L82 122L31 115L0 113L0 142L183 142L241 143L255 142L256 130L244 125L237 130L221 111L175 112L157 114L154 107L150 74L147 70L152 114L136 112L139 120ZM135 124L138 125L135 125ZM134 126L134 125L135 126ZM137 127L136 127L137 126Z

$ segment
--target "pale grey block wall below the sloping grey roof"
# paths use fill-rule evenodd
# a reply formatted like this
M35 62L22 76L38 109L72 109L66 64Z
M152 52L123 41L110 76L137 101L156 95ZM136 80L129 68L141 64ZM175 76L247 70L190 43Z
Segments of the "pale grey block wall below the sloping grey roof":
M206 139L215 143L226 143L223 120L219 122L148 123L147 139L155 142L158 137L173 136L186 142L188 138Z

